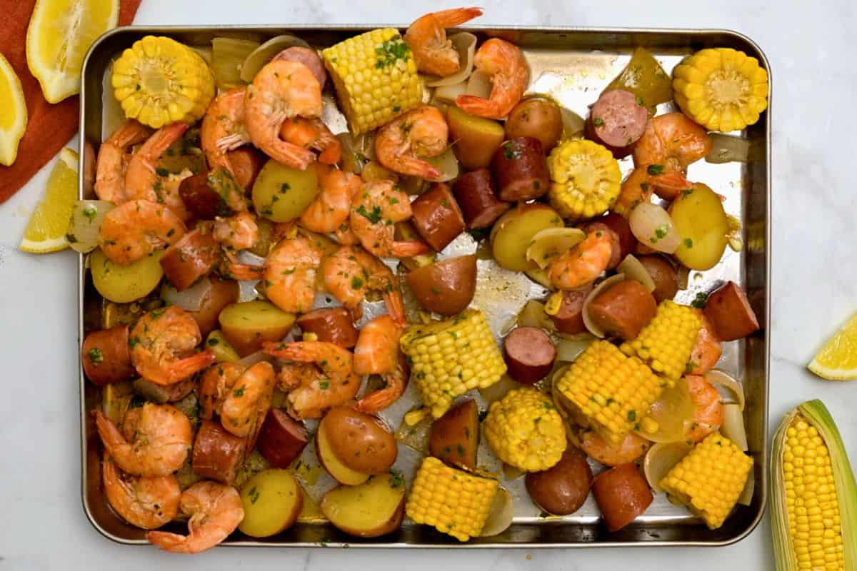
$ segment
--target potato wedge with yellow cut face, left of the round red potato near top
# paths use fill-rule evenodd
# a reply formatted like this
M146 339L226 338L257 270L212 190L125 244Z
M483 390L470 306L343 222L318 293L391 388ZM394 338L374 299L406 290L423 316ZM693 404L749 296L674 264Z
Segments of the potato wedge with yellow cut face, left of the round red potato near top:
M449 124L449 140L458 162L466 170L476 170L491 164L494 151L506 139L506 132L499 122L464 113L455 105L446 110Z

